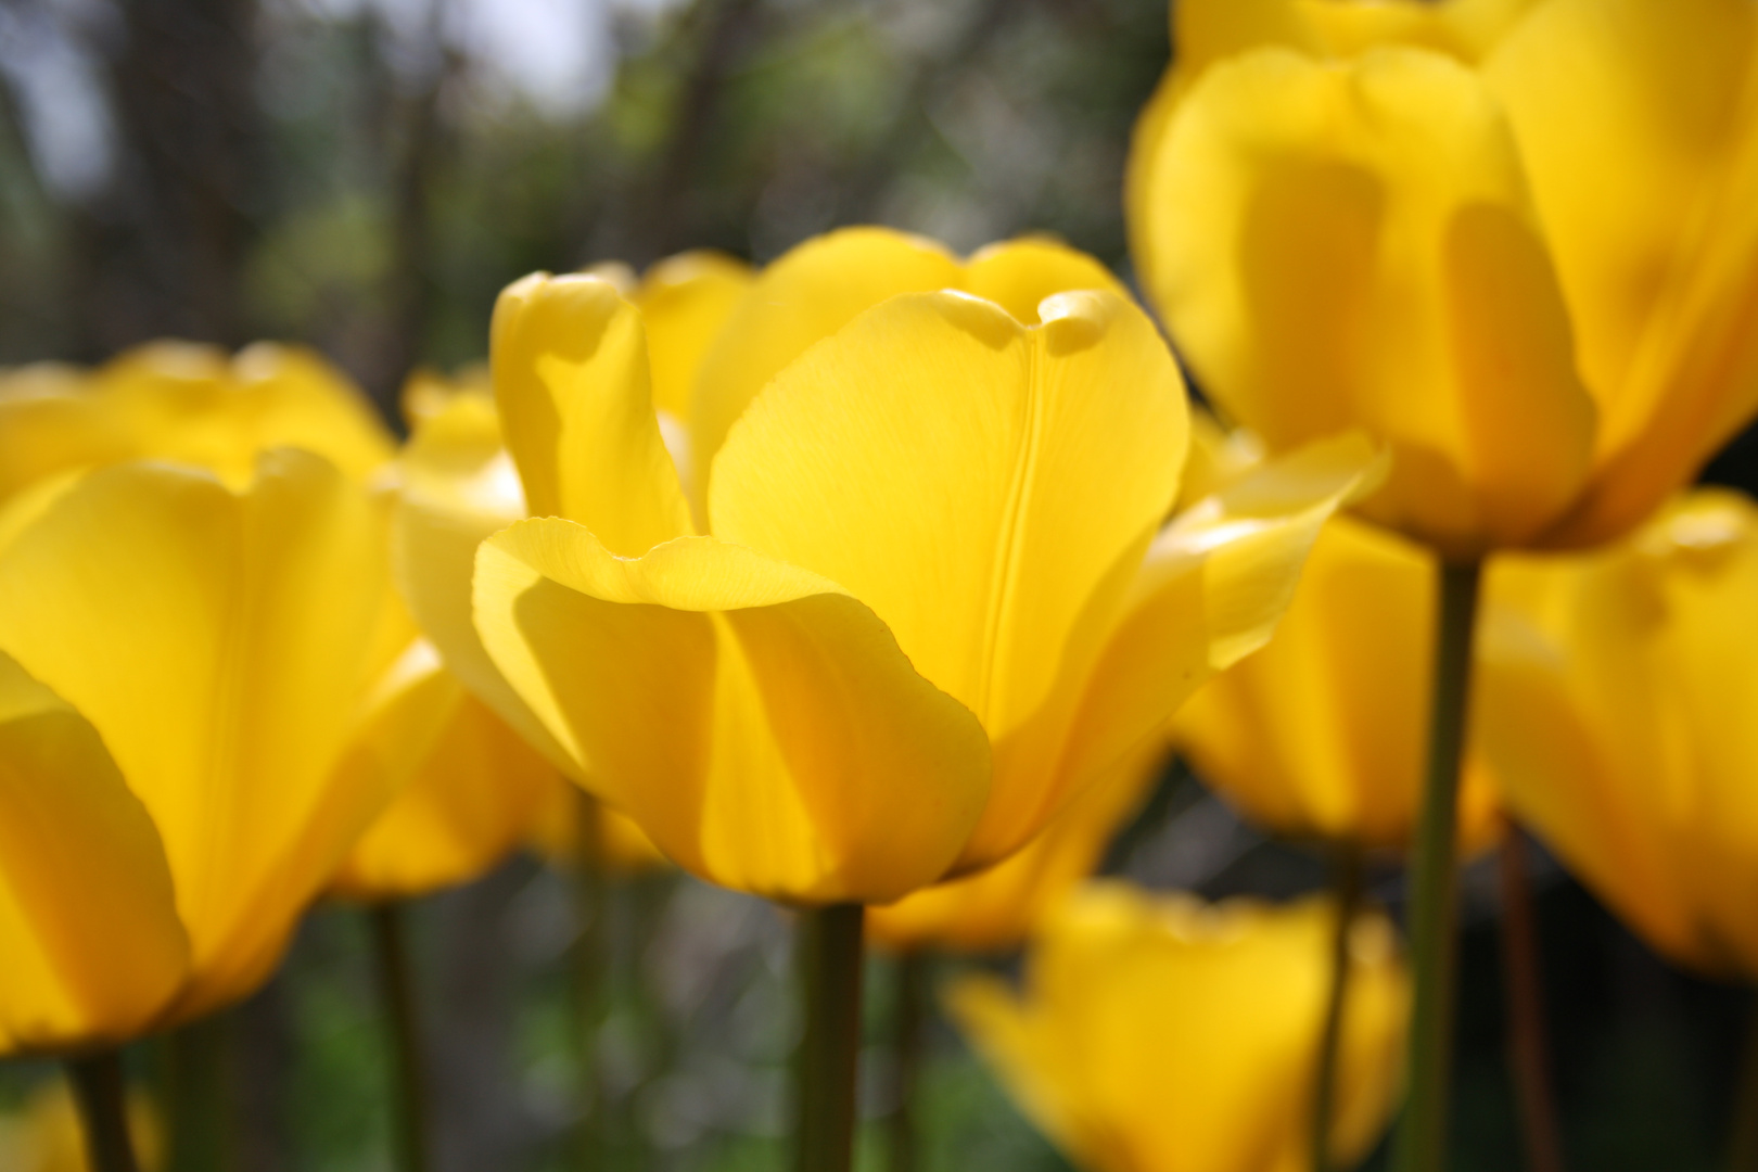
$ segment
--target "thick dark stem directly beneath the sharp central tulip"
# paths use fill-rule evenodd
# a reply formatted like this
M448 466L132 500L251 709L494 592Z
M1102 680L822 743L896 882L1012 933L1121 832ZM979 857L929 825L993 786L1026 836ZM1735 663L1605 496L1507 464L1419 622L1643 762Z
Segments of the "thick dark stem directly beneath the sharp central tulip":
M861 1051L860 903L800 912L795 930L805 1033L796 1056L796 1172L849 1172Z

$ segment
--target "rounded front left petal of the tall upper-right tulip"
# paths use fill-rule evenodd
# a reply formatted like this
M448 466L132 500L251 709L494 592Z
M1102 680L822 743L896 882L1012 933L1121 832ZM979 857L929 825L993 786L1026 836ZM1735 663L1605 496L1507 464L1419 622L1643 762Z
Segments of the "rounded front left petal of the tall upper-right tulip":
M1512 135L1452 60L1217 65L1146 144L1150 290L1271 450L1392 448L1377 520L1452 557L1535 539L1582 488L1593 401Z

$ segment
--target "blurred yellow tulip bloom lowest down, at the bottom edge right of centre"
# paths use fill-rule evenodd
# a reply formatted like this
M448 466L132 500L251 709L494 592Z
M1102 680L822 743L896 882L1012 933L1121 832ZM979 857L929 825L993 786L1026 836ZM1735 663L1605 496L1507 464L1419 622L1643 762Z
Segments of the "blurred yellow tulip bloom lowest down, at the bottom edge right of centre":
M949 1009L1086 1172L1303 1172L1334 907L1204 905L1092 884L1027 954L1025 991L967 977ZM1350 930L1331 1149L1354 1167L1398 1100L1410 979L1391 924Z

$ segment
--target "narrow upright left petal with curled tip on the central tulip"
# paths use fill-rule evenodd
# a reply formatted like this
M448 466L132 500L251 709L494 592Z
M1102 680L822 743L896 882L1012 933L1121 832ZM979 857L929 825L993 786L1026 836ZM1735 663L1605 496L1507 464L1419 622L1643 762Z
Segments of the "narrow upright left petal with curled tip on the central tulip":
M592 276L533 274L494 306L494 394L538 517L568 517L626 557L693 532L659 436L640 311Z

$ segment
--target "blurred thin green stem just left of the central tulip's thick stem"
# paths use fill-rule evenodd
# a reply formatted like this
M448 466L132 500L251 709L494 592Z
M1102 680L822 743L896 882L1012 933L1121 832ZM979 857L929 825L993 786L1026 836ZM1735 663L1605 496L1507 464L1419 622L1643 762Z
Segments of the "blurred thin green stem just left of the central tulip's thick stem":
M605 1012L608 901L598 799L582 791L577 801L573 908L580 935L573 945L573 993L580 1123L575 1128L575 1167L580 1172L598 1172L605 1165L605 1096L598 1074L598 1033Z

